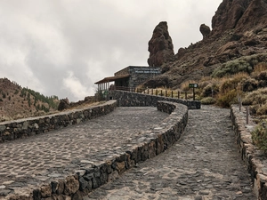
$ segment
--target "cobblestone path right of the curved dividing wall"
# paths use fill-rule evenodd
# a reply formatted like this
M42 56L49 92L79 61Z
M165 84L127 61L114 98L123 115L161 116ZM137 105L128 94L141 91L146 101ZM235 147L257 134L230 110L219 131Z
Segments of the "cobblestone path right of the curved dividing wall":
M255 200L231 129L230 110L202 106L172 148L84 199Z

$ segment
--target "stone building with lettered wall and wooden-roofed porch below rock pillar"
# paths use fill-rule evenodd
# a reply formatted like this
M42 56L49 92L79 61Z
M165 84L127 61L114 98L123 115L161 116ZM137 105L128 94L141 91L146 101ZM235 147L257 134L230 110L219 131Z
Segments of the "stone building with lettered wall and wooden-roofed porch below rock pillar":
M94 84L98 84L98 91L109 90L110 82L114 82L116 90L134 91L138 85L160 74L160 68L128 66L117 71L114 76L105 77Z

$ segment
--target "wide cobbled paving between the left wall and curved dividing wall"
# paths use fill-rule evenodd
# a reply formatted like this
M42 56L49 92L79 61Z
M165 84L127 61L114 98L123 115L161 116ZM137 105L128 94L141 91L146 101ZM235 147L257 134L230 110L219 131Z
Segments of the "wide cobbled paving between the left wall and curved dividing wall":
M0 144L0 199L116 156L131 138L162 122L157 108L117 108L82 124ZM2 197L1 197L2 196Z

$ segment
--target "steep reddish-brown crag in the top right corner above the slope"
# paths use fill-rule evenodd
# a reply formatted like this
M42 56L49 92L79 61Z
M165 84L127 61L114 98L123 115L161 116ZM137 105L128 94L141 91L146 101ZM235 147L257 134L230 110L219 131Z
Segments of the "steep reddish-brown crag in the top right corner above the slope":
M266 9L266 0L223 0L212 19L213 34L222 34L233 28L240 32L264 25L267 21Z

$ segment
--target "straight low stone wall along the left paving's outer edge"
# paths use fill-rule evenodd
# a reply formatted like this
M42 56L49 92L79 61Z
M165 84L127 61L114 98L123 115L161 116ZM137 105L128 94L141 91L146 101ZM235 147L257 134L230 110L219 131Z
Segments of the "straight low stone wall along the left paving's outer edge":
M41 132L50 132L71 124L79 124L85 120L106 115L116 107L116 100L110 100L91 108L73 109L49 116L3 122L0 123L0 143L7 140L26 138Z

